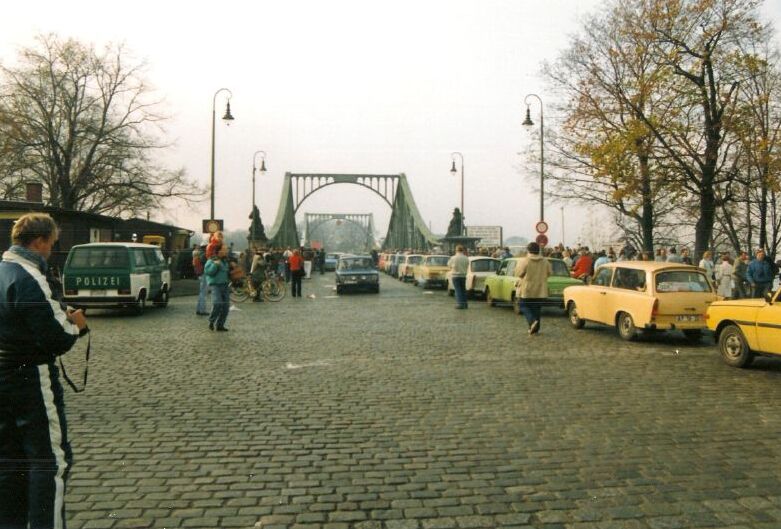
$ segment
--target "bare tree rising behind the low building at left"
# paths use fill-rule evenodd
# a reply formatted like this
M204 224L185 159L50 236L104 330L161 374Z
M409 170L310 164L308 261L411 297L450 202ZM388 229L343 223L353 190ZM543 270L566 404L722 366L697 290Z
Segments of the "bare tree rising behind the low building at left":
M45 35L22 49L0 67L0 149L14 163L4 182L36 179L52 206L113 215L202 197L182 169L156 161L169 146L165 116L143 74L121 45L99 52Z

